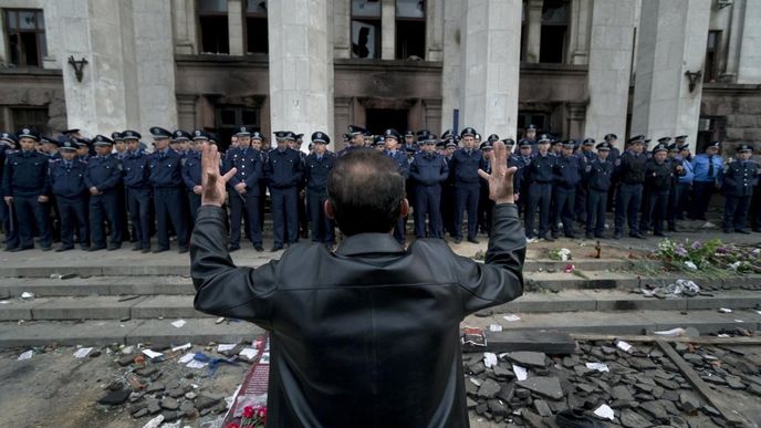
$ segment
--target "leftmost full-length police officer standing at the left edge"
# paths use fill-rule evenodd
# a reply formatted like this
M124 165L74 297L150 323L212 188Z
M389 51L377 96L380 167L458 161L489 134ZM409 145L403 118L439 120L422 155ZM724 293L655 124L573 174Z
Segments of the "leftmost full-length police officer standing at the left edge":
M40 232L40 247L49 251L52 244L50 225L45 217L44 203L50 195L48 181L48 156L34 150L40 134L30 128L22 128L15 134L21 150L8 155L3 168L2 190L6 203L15 210L19 228L19 246L9 251L22 251L34 248L34 226Z

